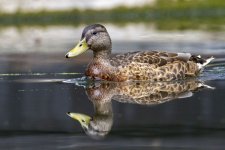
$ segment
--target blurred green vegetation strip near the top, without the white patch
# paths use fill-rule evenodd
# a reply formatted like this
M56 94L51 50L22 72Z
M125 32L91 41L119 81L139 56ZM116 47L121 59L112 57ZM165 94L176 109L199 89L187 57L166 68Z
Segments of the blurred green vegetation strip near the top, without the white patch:
M64 10L0 13L0 27L47 26L90 23L153 23L159 30L222 30L225 25L224 0L158 0L142 7L110 10Z

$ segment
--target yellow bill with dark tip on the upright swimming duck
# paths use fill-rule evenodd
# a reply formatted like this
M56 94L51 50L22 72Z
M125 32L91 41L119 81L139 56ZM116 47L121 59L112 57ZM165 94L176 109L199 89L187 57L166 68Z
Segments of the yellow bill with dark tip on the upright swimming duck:
M78 56L82 54L83 52L87 51L88 49L89 48L88 48L86 39L84 38L76 45L75 48L73 48L66 54L66 58Z

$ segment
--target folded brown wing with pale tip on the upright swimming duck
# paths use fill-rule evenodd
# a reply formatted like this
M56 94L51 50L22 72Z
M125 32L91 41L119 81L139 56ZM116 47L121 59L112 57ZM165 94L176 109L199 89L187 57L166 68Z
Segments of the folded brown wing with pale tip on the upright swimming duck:
M113 66L126 65L129 63L145 63L163 66L174 61L187 62L191 59L190 53L168 53L158 51L138 51L116 55L111 58Z

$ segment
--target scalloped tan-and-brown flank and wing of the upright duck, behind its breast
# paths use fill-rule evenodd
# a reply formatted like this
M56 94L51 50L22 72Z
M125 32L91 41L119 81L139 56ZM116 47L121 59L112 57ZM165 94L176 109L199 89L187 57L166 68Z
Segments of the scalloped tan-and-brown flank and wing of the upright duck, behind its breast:
M197 76L197 63L189 53L157 51L132 52L116 55L110 64L116 67L114 76L125 80L171 81Z

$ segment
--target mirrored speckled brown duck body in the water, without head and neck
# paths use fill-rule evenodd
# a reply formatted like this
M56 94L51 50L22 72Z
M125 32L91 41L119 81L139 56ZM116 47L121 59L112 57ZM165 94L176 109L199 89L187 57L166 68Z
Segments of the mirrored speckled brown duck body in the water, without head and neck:
M89 86L86 92L95 104L114 99L126 103L152 105L192 96L192 92L203 87L208 86L194 79L173 82L101 82Z

